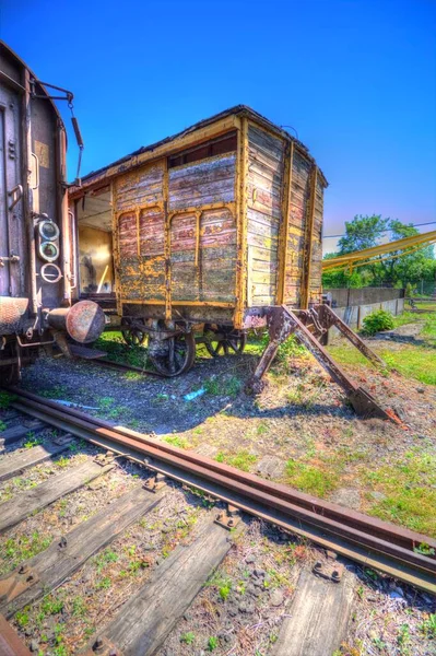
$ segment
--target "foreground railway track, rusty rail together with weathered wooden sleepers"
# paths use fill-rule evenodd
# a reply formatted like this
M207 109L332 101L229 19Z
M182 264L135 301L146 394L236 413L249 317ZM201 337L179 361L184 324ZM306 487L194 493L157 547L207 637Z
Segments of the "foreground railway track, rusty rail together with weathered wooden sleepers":
M17 500L12 499L1 504L0 534L49 507L64 495L108 475L116 466L118 456L145 466L150 478L143 487L134 487L101 508L91 519L62 536L60 542L55 540L45 551L1 578L0 613L7 619L61 585L132 523L158 506L165 507L165 499L168 497L166 481L169 479L225 504L224 507L221 504L219 514L216 508L204 513L201 530L197 531L193 541L188 547L180 547L172 552L152 573L146 584L134 591L101 632L92 636L89 646L78 652L80 654L133 656L156 653L192 604L210 573L228 554L234 535L246 529L245 522L240 520L240 512L279 526L286 534L290 531L309 538L327 552L346 557L423 590L436 593L436 560L416 551L423 551L425 544L431 552L436 547L435 540L241 472L148 435L113 426L31 393L15 388L10 391L14 395L14 411L30 415L31 424L25 427L17 425L4 432L3 441L7 445L8 442L20 440L30 430L36 434L47 425L55 426L60 435L0 460L0 482L20 472L31 471L36 465L61 455L75 437L103 450L95 459L58 473L21 493ZM232 529L231 532L228 529ZM342 565L337 561L332 563L321 559L315 570L330 583L339 584ZM307 573L305 576L307 577ZM321 585L325 583L323 581ZM302 578L301 588L306 591L301 602L307 604L311 595L314 599L318 598L319 606L320 593L311 590L311 585L310 581ZM323 588L321 590L322 599L326 595L333 595L334 604L344 605L344 618L350 612L349 589L346 585L341 588L331 584L328 591ZM319 618L319 648L323 649L326 619L322 620L322 613ZM327 622L331 624L329 618ZM0 637L5 636L4 641L10 645L16 636L8 637L8 631L0 626ZM338 631L343 631L343 626L338 628ZM281 652L280 645L283 649L288 649L288 636L293 632L295 626L286 626L285 622L281 632L283 637L272 652L274 656L290 653ZM333 631L331 651L337 648L334 644L338 636L338 632ZM16 651L16 647L12 652L2 652L0 641L2 655L28 653L25 646L22 645L22 652ZM305 653L326 652L310 652L308 648Z

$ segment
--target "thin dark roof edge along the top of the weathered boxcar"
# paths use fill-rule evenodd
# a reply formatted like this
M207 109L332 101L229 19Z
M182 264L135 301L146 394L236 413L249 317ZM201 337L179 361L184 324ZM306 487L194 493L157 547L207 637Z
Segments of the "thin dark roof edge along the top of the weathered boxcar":
M200 121L193 124L189 128L181 130L181 132L177 132L176 134L173 134L172 137L166 137L165 139L162 139L161 141L156 141L155 143L152 143L150 145L143 145L140 149L133 151L132 153L125 155L123 157L120 157L119 160L116 160L115 162L111 162L110 164L107 164L106 166L103 166L102 168L98 168L97 171L92 171L91 173L89 173L87 175L82 177L81 187L78 187L75 185L70 187L70 195L76 196L78 194L80 194L81 190L84 190L84 188L92 187L94 184L102 183L102 181L106 180L107 178L115 177L117 175L121 175L126 171L129 171L131 168L140 166L142 164L142 161L140 160L140 161L134 162L134 159L137 159L139 155L142 155L143 153L153 152L154 150L157 150L160 147L169 144L172 142L175 142L174 149L176 151L177 141L180 140L181 138L184 138L187 134L190 134L192 132L196 132L197 130L207 128L208 126L211 126L212 124L217 122L222 119L225 119L226 117L229 117L229 116L245 116L245 117L251 118L257 124L268 128L272 132L275 132L278 136L286 139L287 141L293 141L298 147L298 149L305 154L305 156L310 162L315 163L315 159L309 154L309 150L307 149L307 147L304 145L304 143L302 143L298 139L295 139L295 137L290 134L290 132L287 132L286 130L283 130L283 128L271 122L268 118L266 118L261 114L258 114L257 112L251 109L251 107L248 107L247 105L235 105L234 107L231 107L229 109L224 109L224 112L220 112L219 114L215 114L215 115L211 116L210 118L205 118L203 120L200 120ZM156 156L158 156L158 155L156 155ZM328 181L326 179L326 176L323 175L322 171L320 171L320 173L322 176L322 180L327 187Z

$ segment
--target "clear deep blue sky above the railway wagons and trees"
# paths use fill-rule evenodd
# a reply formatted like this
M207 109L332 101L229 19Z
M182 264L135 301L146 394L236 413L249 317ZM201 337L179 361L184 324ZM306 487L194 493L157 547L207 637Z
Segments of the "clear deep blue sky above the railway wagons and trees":
M317 159L325 234L361 213L436 220L435 0L0 7L0 37L75 95L83 174L243 103L294 126ZM70 134L71 178L75 165Z

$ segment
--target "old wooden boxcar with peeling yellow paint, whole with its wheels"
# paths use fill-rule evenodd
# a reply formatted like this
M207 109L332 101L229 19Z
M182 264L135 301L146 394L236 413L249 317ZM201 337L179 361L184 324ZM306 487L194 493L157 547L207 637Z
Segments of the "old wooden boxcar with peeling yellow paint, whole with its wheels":
M193 325L212 352L240 350L266 308L319 303L326 186L302 142L227 109L70 190L82 292L116 292L161 373L192 364Z

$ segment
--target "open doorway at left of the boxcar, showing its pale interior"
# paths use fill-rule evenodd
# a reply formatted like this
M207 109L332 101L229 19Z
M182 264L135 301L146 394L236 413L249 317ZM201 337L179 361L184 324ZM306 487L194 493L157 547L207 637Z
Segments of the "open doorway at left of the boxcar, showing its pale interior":
M113 201L109 186L75 201L80 296L114 300Z

